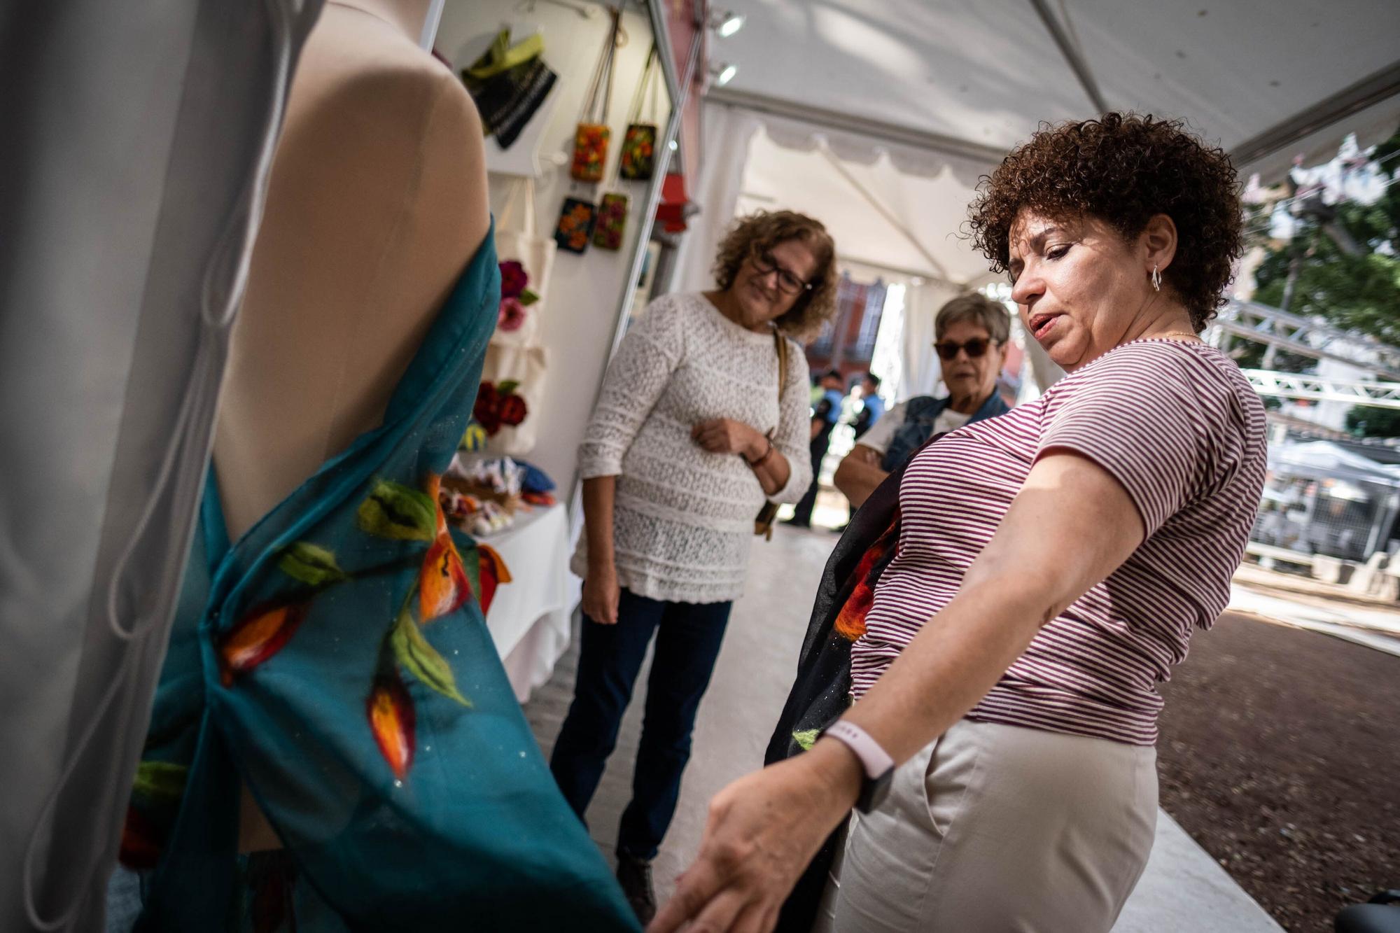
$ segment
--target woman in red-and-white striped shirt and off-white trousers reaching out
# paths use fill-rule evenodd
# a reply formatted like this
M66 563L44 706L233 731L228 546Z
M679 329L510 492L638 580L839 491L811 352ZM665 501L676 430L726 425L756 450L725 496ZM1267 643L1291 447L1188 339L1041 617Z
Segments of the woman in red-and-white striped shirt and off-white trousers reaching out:
M843 822L820 930L1107 933L1147 864L1155 686L1225 608L1264 478L1263 406L1196 336L1240 252L1235 170L1106 113L1008 154L970 227L1070 375L876 490L900 525L841 618L853 703L717 794L654 930L771 929Z

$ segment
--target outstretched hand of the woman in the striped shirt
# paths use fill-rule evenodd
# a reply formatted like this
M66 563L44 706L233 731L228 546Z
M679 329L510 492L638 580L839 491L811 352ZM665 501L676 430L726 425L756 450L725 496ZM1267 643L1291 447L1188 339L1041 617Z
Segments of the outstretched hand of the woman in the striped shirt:
M767 933L808 862L860 794L855 755L827 738L710 801L700 855L647 933Z

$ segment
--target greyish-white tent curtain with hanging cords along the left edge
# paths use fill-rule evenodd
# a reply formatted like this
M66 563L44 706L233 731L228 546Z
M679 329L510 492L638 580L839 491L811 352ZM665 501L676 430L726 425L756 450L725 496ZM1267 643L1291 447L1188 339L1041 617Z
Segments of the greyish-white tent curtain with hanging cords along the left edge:
M0 13L0 929L95 930L321 0Z

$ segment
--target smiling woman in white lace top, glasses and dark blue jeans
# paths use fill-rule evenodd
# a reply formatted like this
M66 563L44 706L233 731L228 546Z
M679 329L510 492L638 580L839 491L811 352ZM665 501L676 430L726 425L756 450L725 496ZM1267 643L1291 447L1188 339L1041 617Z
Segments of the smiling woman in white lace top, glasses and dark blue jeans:
M629 331L580 448L582 646L550 768L582 817L655 633L617 831L617 877L643 922L755 516L764 500L797 502L811 479L806 366L792 335L836 310L834 244L802 214L739 220L714 275L714 291L657 298Z

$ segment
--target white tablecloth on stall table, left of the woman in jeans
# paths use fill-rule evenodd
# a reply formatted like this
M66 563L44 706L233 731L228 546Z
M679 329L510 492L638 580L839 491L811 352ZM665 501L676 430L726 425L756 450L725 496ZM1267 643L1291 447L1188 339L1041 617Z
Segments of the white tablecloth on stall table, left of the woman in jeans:
M568 572L568 514L563 504L519 511L514 525L480 541L496 548L511 572L511 583L496 590L486 628L524 703L568 647L570 618L582 590Z

